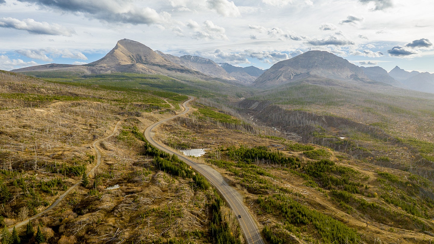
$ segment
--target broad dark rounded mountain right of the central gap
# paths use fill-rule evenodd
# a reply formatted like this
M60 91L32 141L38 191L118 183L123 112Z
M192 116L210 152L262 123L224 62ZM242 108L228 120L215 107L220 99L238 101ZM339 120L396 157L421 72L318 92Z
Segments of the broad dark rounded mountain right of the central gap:
M274 64L253 86L278 86L316 76L353 83L369 81L362 68L348 60L325 51L309 51Z

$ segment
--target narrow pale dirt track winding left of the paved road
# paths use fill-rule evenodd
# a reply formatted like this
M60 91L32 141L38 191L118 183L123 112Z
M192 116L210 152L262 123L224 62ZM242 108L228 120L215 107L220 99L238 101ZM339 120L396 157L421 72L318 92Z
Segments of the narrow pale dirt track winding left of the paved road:
M120 122L121 122L121 121L118 121L118 122L116 123L115 128L113 129L112 134L110 134L110 135L108 135L108 136L106 136L106 137L104 137L104 138L98 139L98 140L96 140L95 142L93 142L92 146L93 146L93 149L94 149L95 152L96 152L96 165L95 165L95 167L92 168L91 171L89 171L89 172L87 173L87 176L94 174L95 169L98 168L99 165L101 164L101 152L100 152L100 150L99 150L99 148L98 148L98 146L97 146L98 143L101 142L102 140L105 140L105 139L107 139L107 138L109 138L109 137L115 135L115 132L116 132L116 130L118 129L118 125L119 125ZM20 223L17 223L17 224L15 224L15 225L11 226L11 227L9 228L9 231L13 231L13 227L15 227L16 229L18 229L18 228L20 228L21 226L23 226L24 224L29 223L29 221L31 221L31 220L33 220L33 219L35 219L35 218L38 218L39 216L41 216L41 215L45 214L46 212L52 210L54 207L56 207L56 206L60 203L60 201L63 200L63 198L66 197L66 195L69 194L69 192L72 191L72 189L76 188L79 184L81 184L81 180L77 181L76 184L74 184L74 185L73 185L72 187L70 187L67 191L65 191L62 195L60 195L59 198L58 198L55 202L53 202L53 204L51 204L48 208L46 208L44 211L40 212L39 214L36 214L35 216L33 216L33 217L31 217L31 218L28 218L28 219L26 219L26 220L21 221Z

